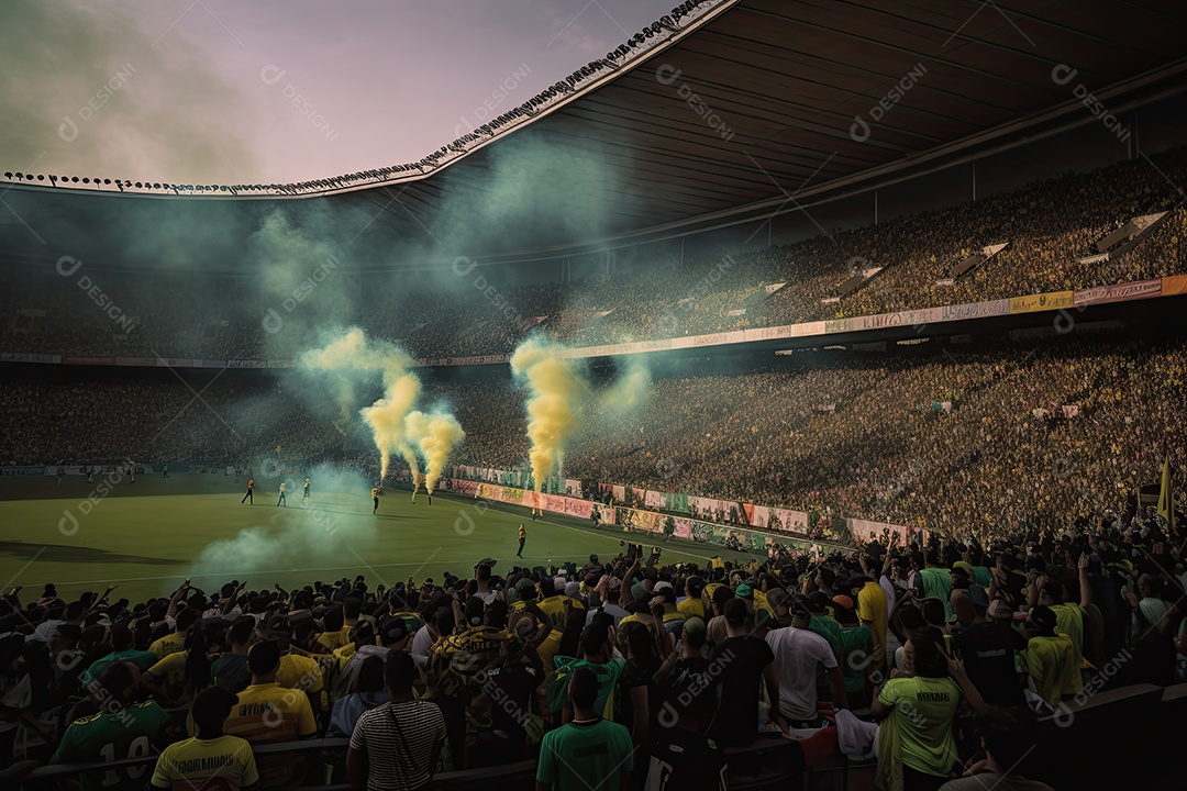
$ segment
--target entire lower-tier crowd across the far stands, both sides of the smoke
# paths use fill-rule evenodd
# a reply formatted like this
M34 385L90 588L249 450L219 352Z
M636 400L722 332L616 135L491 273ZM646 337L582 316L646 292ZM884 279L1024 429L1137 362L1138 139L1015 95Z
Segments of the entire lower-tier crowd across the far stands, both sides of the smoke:
M591 401L564 473L989 540L1102 504L1122 512L1163 460L1187 467L1178 342L916 349L662 377L628 415ZM247 467L280 446L287 459L374 463L358 421L312 414L301 394L253 374L205 389L88 375L6 384L0 461ZM425 398L451 404L466 432L453 461L522 468L523 394L510 381L429 381ZM1062 404L1078 414L1061 417Z

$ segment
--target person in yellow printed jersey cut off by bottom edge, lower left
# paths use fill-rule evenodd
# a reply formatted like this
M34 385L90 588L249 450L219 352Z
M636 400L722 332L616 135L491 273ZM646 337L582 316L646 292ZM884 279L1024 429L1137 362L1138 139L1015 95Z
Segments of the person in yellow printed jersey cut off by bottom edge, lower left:
M254 791L260 787L252 745L223 733L237 698L220 687L208 687L193 701L193 725L198 735L170 745L157 759L152 787L188 791L226 789Z

